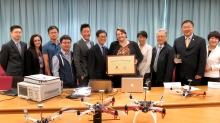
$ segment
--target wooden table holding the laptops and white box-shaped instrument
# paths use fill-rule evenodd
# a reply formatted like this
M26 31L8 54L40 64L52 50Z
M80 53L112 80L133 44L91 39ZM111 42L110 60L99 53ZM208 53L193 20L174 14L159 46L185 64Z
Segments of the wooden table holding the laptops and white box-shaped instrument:
M206 86L199 86L200 92L206 91ZM219 90L219 89L218 89ZM216 90L214 90L216 91ZM213 90L212 90L213 92ZM12 100L6 100L0 102L0 114L11 114L11 113L23 113L23 109L29 110L29 112L38 112L37 104L44 104L44 112L54 112L58 111L63 107L69 106L69 109L77 109L77 110L86 110L88 109L86 106L82 106L80 100L73 101L70 99L66 99L65 96L71 94L72 92L65 91L61 96L54 97L52 99L48 99L41 103L27 101L22 98L14 98ZM220 107L220 94L219 93L209 93L207 92L207 96L205 98L198 97L186 97L183 99L180 95L175 95L170 91L164 90L164 88L153 87L150 93L147 94L147 100L157 101L160 99L161 94L164 94L165 102L163 103L163 107L166 109L173 108L200 108L200 107ZM100 93L92 94L91 97L97 100L90 100L89 102L101 102L98 100L101 95ZM106 98L106 94L104 97ZM132 96L137 100L143 100L143 93L132 93ZM0 95L0 99L10 99L12 97ZM125 104L130 104L129 96L125 93L121 93L120 89L118 89L118 93L115 95L115 106L113 108L123 109Z

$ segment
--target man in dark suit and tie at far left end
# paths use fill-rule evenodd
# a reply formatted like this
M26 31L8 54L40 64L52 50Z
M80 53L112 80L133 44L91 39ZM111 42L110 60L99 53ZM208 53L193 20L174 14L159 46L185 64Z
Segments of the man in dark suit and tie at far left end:
M10 28L11 40L2 45L0 63L6 75L24 76L24 52L27 44L20 41L22 28L18 25Z

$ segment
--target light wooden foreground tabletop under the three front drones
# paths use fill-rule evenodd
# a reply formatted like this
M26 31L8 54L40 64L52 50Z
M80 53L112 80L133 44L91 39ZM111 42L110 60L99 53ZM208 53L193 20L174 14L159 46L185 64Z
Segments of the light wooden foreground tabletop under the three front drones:
M51 113L44 113L43 116L51 116ZM30 117L38 119L39 114L29 114ZM157 123L218 123L220 121L220 107L204 108L180 108L167 109L167 115L164 119L157 114ZM103 114L104 119L112 118L112 115ZM102 123L132 123L134 112L129 112L128 116L120 115L120 120L107 120ZM26 123L23 114L1 114L1 123ZM92 123L89 121L90 115L84 115L78 120L75 113L63 113L60 119L55 119L52 123ZM69 122L72 121L72 122ZM28 123L32 123L28 121ZM150 113L140 112L136 123L154 123Z

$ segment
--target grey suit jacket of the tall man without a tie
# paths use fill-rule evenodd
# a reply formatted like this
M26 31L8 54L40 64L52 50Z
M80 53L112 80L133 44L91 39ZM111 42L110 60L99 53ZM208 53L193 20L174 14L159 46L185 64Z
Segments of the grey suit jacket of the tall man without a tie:
M90 41L91 47L94 45L93 41ZM80 39L73 45L73 58L76 67L76 75L78 77L88 76L88 46L83 39Z

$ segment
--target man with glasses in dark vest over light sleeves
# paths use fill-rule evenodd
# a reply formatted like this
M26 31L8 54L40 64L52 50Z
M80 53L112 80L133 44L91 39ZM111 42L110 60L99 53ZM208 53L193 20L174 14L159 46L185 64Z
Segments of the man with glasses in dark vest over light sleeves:
M73 52L70 51L72 40L68 35L60 37L61 50L53 56L53 76L60 77L64 88L76 87L76 72L73 62Z

